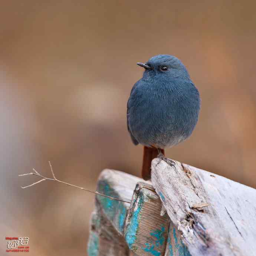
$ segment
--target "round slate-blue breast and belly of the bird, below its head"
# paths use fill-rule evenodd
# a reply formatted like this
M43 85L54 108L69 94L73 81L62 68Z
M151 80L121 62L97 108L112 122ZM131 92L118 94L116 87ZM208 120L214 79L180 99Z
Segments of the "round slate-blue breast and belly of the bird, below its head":
M164 148L189 137L200 108L196 87L143 86L135 88L128 102L129 128L138 142Z

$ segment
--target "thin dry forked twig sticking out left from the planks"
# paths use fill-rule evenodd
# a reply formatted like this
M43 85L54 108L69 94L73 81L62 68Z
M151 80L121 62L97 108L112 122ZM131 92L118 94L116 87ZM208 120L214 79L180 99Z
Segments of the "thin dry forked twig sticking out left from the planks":
M116 198L116 197L112 197L112 196L107 196L107 195L105 195L105 194L99 193L98 191L92 191L92 190L89 190L89 189L87 189L87 188L79 187L79 186L76 186L76 185L67 183L67 182L65 182L65 181L58 180L58 179L55 177L55 174L54 174L54 172L53 172L52 165L51 165L50 161L48 161L48 163L49 163L49 165L50 165L50 170L51 170L51 173L52 173L52 177L53 177L53 178L47 178L47 177L41 175L38 171L36 171L36 169L33 168L34 173L25 173L25 174L20 174L19 176L36 175L36 176L38 176L38 177L41 177L42 180L39 180L39 181L37 181L37 182L35 182L35 183L32 183L32 184L30 184L30 185L28 185L28 186L21 187L21 188L32 187L32 186L34 186L34 185L36 185L37 183L40 183L40 182L42 182L42 181L45 181L45 180L52 180L52 181L58 181L59 183L66 184L66 185L71 186L71 187L80 188L80 189L82 189L82 190L88 191L88 192L93 193L93 194L97 194L97 195L99 195L99 196L108 197L108 198L110 198L110 199L112 199L112 200L117 200L117 201L121 201L121 202L124 202L124 203L131 203L131 201L128 201L128 199L122 200L122 199L120 199L120 198Z

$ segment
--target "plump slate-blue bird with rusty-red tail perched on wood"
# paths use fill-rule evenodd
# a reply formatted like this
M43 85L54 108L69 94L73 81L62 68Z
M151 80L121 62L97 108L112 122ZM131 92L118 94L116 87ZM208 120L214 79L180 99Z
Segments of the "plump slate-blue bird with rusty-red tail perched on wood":
M147 62L142 78L132 87L127 102L127 128L134 145L144 146L142 178L151 178L151 161L165 148L185 141L196 127L201 107L198 89L184 64L172 55L156 55Z

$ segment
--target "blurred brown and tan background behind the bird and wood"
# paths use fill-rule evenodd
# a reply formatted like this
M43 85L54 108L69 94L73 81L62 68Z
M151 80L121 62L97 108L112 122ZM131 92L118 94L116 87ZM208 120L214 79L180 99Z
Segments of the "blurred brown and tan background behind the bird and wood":
M29 236L30 254L86 255L104 168L140 175L126 104L142 69L172 54L202 98L189 140L167 156L256 187L255 1L1 1L0 253ZM235 193L235 191L234 191ZM27 255L20 253L20 255Z

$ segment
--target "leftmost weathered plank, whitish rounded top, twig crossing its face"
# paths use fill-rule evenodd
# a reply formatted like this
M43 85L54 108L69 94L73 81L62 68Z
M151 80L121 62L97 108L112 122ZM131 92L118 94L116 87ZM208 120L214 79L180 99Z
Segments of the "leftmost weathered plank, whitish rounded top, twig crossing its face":
M114 170L103 170L98 178L97 191L107 196L131 201L140 178ZM124 224L130 203L96 195L95 212L91 217L88 242L89 256L128 256L124 239Z

